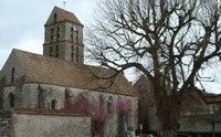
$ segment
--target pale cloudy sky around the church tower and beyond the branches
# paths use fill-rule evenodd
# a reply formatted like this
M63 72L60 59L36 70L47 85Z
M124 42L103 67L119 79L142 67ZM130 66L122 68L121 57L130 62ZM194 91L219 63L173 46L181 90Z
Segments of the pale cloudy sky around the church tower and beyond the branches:
M65 1L65 6L63 4ZM1 0L0 1L0 70L12 49L42 54L44 23L54 6L73 12L86 27L93 20L97 0ZM207 92L221 93L221 66L206 71L214 77L213 83L203 83ZM127 73L134 78L133 72ZM131 75L131 76L130 76Z

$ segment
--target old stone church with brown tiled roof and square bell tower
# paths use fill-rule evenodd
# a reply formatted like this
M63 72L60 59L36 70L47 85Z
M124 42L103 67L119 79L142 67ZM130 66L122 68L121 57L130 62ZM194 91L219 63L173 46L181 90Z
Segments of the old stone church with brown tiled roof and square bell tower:
M62 109L65 99L84 94L113 106L104 136L116 136L116 101L131 104L128 126L137 129L138 96L124 74L113 81L113 71L84 64L83 28L70 11L54 7L45 25L43 55L13 49L0 71L1 108ZM53 126L53 125L50 125Z

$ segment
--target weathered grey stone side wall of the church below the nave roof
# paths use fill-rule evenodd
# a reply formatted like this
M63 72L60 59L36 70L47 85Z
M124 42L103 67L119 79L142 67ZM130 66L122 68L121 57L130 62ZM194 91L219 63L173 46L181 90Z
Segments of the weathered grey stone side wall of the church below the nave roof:
M41 101L39 98L40 96L40 91L44 91L44 98ZM138 99L137 97L133 96L125 96L125 95L117 95L117 94L109 94L105 92L97 92L97 91L88 91L88 89L82 89L82 88L74 88L74 87L63 87L63 86L56 86L56 85L49 85L49 84L38 84L38 83L25 83L22 85L21 96L19 101L21 101L18 106L17 99L14 101L14 106L15 107L24 107L24 108L52 108L52 101L55 101L55 109L62 109L64 108L64 102L65 102L65 91L69 88L71 94L73 96L77 96L80 94L84 94L87 97L91 97L95 101L99 101L99 96L103 96L104 98L104 106L105 109L107 108L107 102L108 98L113 98L113 105L114 105L114 113L112 118L109 119L109 123L107 125L107 128L105 130L105 136L116 136L118 133L118 115L116 112L116 106L115 103L117 102L118 97L127 98L131 102L131 112L129 114L129 122L128 126L131 129L137 129L137 109L138 109ZM12 93L15 93L15 86L8 86L4 87L3 89L4 96L3 96L3 108L7 109L9 108L9 98L8 96ZM40 107L40 102L42 102L44 105Z

